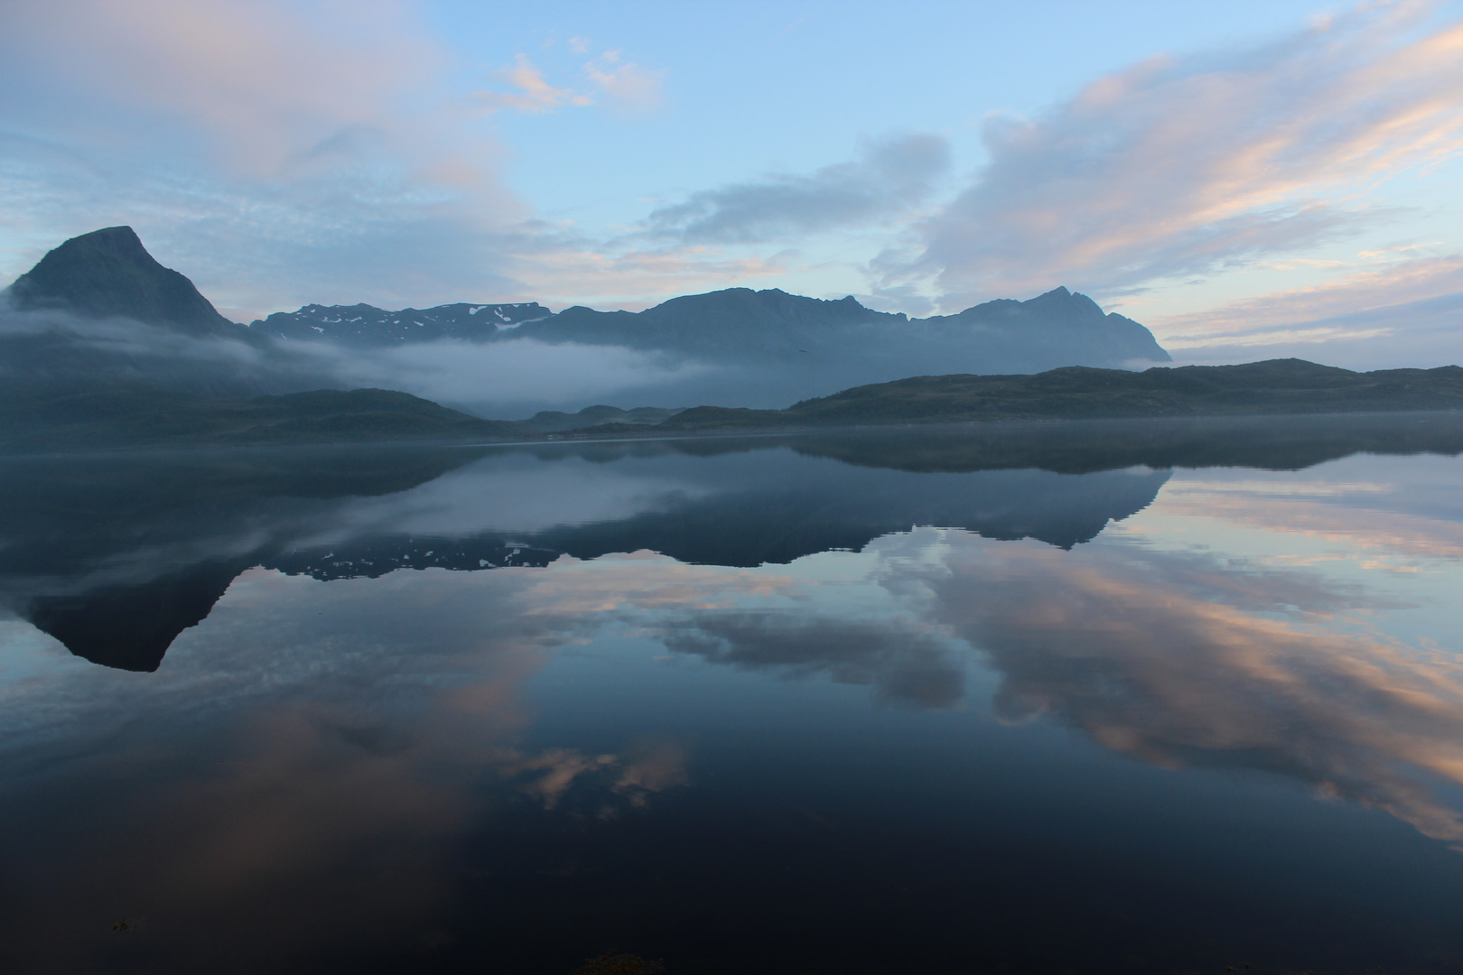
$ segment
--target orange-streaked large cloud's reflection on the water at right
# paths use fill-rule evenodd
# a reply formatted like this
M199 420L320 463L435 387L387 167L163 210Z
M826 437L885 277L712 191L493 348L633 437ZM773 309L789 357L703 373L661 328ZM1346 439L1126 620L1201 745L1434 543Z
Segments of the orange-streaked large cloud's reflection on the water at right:
M998 712L1052 713L1163 766L1261 769L1387 810L1463 849L1463 819L1406 766L1463 782L1463 669L1378 636L1261 615L1184 560L964 547L938 615L1002 672ZM1337 608L1296 573L1274 592ZM1255 588L1264 596L1273 582ZM1355 602L1355 596L1352 596Z

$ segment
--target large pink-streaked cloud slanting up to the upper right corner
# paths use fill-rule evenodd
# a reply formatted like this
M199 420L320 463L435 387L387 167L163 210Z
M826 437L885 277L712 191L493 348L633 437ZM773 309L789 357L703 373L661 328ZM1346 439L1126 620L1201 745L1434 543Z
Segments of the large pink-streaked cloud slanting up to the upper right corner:
M1153 58L1031 120L985 123L989 162L875 262L947 304L1064 282L1122 294L1304 250L1385 219L1375 181L1463 146L1463 25L1364 7L1260 50Z

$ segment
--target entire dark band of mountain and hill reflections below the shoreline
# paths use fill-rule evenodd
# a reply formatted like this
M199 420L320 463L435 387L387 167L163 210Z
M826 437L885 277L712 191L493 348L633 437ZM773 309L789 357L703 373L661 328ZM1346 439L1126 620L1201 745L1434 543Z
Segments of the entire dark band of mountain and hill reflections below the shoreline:
M1167 478L1148 468L1165 463L1301 466L1463 443L1463 418L1347 422L10 460L0 599L80 656L155 669L252 566L345 579L638 550L759 566L913 525L1071 548L1147 506Z

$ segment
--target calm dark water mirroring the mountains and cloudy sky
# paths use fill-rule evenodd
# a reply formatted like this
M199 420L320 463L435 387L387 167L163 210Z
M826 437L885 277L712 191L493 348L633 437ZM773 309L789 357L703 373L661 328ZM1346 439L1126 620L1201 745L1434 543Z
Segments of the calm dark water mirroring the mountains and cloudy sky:
M0 969L1460 972L1460 450L3 460Z

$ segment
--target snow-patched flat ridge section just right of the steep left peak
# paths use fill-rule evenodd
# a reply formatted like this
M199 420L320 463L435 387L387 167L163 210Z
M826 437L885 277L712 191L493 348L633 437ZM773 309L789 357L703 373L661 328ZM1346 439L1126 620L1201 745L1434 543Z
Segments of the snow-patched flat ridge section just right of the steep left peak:
M271 338L331 341L354 345L405 345L437 339L486 342L500 329L552 314L537 301L521 304L439 304L433 308L385 311L369 304L307 304L249 323Z

